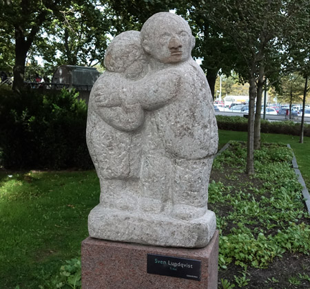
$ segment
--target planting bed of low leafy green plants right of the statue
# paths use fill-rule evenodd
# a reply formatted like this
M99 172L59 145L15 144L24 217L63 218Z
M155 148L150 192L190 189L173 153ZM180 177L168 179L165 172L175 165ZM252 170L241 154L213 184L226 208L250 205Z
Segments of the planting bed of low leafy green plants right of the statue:
M220 288L310 288L310 218L285 144L255 154L234 142L214 162L209 208L220 230Z

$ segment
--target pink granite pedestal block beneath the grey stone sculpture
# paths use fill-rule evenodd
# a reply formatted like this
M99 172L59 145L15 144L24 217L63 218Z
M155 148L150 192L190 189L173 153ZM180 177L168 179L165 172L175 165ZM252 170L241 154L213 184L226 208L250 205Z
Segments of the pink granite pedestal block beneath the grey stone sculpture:
M147 273L147 254L201 261L200 281ZM82 242L83 289L215 289L218 231L205 248L166 248L87 237Z

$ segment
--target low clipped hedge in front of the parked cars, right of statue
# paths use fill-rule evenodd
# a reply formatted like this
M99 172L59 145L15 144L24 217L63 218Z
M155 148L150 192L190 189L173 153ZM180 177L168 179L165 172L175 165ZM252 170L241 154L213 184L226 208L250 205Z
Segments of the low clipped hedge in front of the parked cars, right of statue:
M241 116L216 116L218 129L227 131L247 131L247 118ZM291 120L270 122L261 120L260 131L262 133L282 133L292 136L300 135L300 122ZM310 125L304 124L304 136L310 136Z

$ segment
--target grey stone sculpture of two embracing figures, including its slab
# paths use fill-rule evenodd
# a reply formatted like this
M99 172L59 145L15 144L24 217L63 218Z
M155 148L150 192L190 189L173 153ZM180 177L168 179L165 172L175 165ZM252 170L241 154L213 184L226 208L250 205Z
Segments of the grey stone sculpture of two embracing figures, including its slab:
M184 19L161 12L108 47L87 117L101 184L91 237L203 247L214 235L207 188L218 131L194 43Z

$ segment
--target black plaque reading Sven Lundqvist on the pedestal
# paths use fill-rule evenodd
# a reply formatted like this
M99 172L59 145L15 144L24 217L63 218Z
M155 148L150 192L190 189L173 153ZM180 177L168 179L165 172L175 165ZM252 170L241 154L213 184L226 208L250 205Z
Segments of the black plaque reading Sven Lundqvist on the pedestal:
M200 281L201 261L147 254L147 273Z

